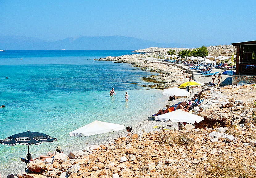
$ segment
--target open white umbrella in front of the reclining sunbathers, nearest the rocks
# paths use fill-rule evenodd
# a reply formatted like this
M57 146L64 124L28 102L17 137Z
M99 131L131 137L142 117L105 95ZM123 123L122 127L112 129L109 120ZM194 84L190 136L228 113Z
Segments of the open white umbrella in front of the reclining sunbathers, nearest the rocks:
M175 110L172 112L168 112L166 114L162 114L159 116L155 116L155 120L158 121L171 121L171 122L187 122L187 123L199 123L204 120L203 117L185 112L183 110Z

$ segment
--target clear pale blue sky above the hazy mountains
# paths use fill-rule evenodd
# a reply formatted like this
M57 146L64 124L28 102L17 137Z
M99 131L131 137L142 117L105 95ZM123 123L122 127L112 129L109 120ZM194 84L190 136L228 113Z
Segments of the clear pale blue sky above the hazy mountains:
M255 1L10 1L0 36L126 36L195 46L256 40Z

